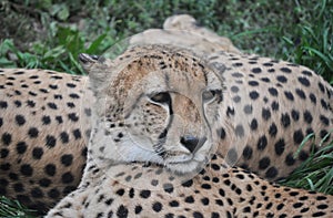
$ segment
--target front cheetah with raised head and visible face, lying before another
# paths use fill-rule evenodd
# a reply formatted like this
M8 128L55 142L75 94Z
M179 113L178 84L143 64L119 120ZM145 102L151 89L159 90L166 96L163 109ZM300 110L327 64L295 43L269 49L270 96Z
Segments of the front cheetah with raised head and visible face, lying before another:
M333 216L333 196L274 185L230 166L215 148L225 146L215 142L228 66L214 71L163 45L80 60L97 98L88 162L78 189L47 217Z

